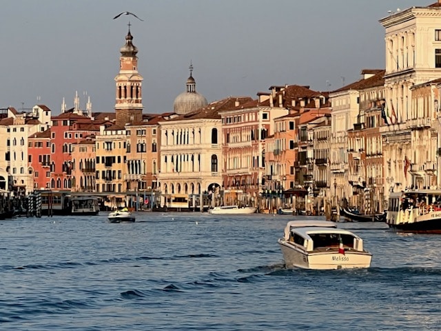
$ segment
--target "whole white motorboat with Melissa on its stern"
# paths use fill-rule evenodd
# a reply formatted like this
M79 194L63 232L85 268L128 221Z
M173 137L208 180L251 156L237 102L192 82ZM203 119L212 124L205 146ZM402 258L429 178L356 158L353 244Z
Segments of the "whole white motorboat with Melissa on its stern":
M369 268L372 254L356 234L330 221L289 221L278 239L288 268Z

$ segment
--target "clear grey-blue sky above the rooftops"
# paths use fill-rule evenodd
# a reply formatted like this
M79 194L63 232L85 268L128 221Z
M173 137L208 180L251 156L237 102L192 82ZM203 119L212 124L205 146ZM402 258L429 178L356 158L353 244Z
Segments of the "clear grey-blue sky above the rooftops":
M119 49L131 23L145 113L173 110L189 64L207 101L270 86L337 90L384 68L378 21L436 0L2 0L0 108L61 112L88 97L113 112ZM143 19L122 15L129 11Z

